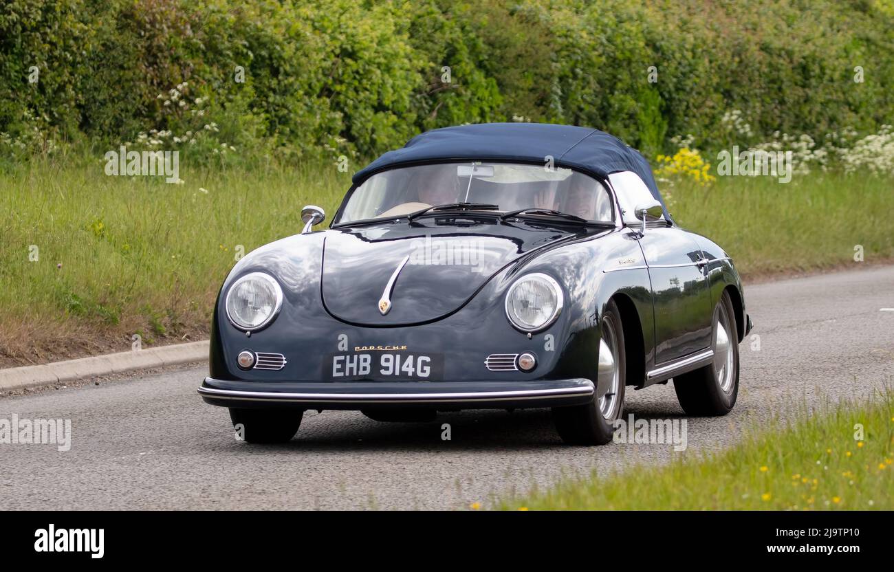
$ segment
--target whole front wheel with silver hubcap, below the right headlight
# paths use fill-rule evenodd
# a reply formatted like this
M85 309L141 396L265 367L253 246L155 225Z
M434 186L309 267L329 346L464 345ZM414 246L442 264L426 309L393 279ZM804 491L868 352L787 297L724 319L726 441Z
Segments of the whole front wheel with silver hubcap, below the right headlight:
M607 388L603 397L586 405L552 408L556 431L566 443L603 445L610 442L615 420L624 415L627 380L624 330L614 300L609 301L603 315L598 371L599 385Z

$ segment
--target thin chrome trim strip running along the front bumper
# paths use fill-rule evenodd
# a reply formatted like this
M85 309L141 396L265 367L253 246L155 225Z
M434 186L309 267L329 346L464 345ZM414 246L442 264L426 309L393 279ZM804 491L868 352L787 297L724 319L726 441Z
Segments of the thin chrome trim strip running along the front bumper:
M593 383L580 387L516 390L468 391L461 393L273 393L268 391L232 391L198 388L200 395L240 401L296 401L299 403L456 403L458 401L541 400L595 394Z

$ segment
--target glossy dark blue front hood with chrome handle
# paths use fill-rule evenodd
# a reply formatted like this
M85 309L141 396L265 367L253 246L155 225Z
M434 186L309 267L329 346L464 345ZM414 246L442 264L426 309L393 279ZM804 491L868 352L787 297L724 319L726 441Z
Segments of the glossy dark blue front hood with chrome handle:
M497 223L485 217L468 217L461 224L451 218L449 225L440 220L325 231L321 294L326 310L358 325L430 322L458 310L519 257L579 236L573 227ZM383 315L380 301L399 267Z

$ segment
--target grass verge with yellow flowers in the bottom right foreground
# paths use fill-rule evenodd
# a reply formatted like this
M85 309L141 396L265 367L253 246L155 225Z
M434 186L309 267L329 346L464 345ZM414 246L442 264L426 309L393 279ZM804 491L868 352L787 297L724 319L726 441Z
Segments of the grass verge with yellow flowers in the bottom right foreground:
M774 418L716 453L565 480L501 509L892 509L894 393ZM859 433L862 428L862 435ZM857 437L863 439L858 440ZM611 445L608 445L611 446Z

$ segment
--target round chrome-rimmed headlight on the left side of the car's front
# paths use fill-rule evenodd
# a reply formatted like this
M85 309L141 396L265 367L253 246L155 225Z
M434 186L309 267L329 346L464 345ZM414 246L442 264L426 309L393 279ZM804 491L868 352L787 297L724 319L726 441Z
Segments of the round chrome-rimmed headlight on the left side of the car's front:
M226 295L226 315L234 326L252 332L268 324L283 306L283 289L270 274L242 276Z

